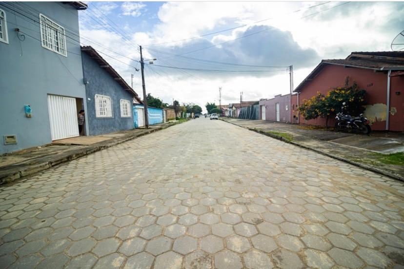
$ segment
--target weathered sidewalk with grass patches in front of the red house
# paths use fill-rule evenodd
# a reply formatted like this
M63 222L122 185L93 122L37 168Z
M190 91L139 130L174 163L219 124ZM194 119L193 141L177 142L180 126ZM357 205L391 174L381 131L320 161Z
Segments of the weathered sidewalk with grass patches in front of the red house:
M404 181L403 165L381 162L383 154L404 152L403 133L374 132L364 136L317 129L316 126L232 118L221 120ZM277 133L287 134L292 139L289 141Z

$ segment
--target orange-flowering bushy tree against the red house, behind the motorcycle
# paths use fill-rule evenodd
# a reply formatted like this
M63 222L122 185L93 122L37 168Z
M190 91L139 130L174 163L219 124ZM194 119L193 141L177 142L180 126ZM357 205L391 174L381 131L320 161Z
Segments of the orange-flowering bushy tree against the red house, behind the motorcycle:
M341 111L343 102L346 106L343 113L349 115L363 113L366 104L365 96L366 90L359 89L358 84L353 83L352 86L333 88L325 96L317 92L317 95L309 100L303 100L303 104L299 106L299 112L306 120L325 118L325 126L328 127L328 119Z

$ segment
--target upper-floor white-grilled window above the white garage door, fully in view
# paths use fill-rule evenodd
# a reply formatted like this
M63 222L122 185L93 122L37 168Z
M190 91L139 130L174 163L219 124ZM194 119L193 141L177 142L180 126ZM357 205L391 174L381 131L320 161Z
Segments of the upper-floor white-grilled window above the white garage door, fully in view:
M67 56L64 28L40 14L40 36L42 47Z

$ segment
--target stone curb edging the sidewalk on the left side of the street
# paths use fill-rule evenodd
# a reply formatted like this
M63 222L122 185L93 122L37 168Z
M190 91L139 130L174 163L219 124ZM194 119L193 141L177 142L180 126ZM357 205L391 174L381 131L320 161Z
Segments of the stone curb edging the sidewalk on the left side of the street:
M78 159L82 156L86 156L89 155L91 153L100 151L102 149L106 149L109 148L111 146L115 146L115 145L119 145L122 144L126 141L150 134L150 133L154 133L163 129L166 129L168 127L174 126L176 124L181 124L182 122L174 122L174 123L169 123L167 125L164 126L159 126L153 129L150 129L148 132L143 132L141 134L133 134L133 135L129 135L127 137L123 137L123 138L117 138L115 140L112 140L110 144L108 145L88 145L85 148L82 148L81 151L75 151L75 152L69 152L67 154L61 154L61 156L59 158L56 159L52 159L50 161L47 162L43 162L43 163L37 163L37 164L33 164L33 165L28 165L25 167L21 167L18 170L14 170L14 171L10 171L10 172L4 172L3 174L0 174L0 185L5 184L5 183L9 183L18 179L21 179L25 176L29 176L32 174L35 174L37 172L46 170L52 166L57 166L60 165L62 163L65 162L69 162L72 161L74 159Z

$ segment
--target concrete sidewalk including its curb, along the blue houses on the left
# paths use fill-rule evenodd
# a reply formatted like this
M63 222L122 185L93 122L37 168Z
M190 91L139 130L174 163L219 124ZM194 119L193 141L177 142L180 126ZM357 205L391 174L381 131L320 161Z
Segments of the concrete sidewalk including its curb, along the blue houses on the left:
M100 136L68 138L55 141L52 145L3 154L0 156L0 184L179 123L156 124L149 129L138 128Z

